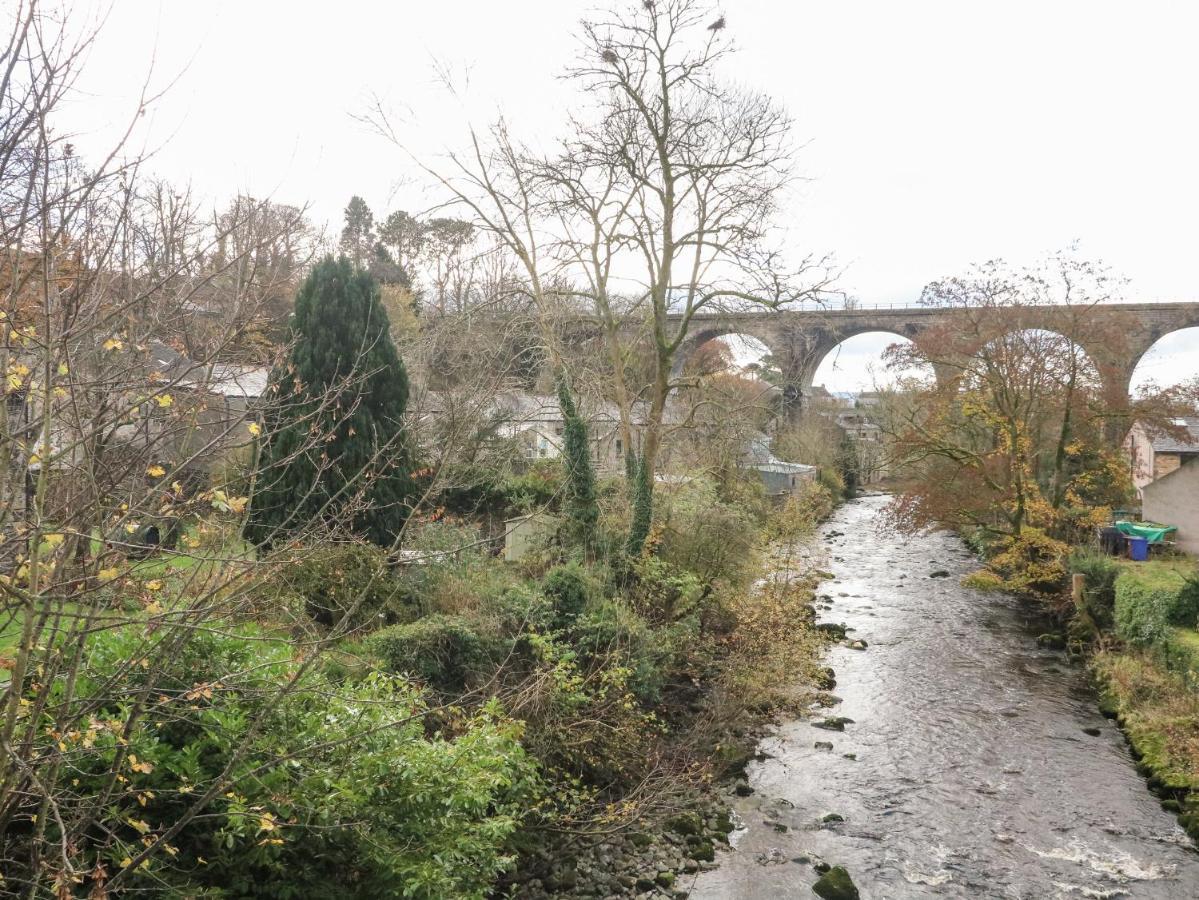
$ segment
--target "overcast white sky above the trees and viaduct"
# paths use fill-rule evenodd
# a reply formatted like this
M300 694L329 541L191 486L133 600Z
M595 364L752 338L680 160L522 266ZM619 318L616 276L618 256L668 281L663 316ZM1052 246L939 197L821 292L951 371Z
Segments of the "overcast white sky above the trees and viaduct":
M115 0L70 122L85 150L104 147L153 54L156 84L179 75L141 132L158 174L213 201L308 203L336 230L355 193L376 216L435 200L353 120L373 93L404 110L423 155L460 147L469 122L499 113L549 137L572 99L556 75L592 6ZM1074 241L1128 276L1134 298L1199 300L1199 4L722 8L740 48L729 71L783 102L803 144L790 237L836 254L840 286L863 303L909 302L971 261L1031 262ZM1199 370L1199 338L1183 346L1168 376ZM848 350L837 377L861 382Z

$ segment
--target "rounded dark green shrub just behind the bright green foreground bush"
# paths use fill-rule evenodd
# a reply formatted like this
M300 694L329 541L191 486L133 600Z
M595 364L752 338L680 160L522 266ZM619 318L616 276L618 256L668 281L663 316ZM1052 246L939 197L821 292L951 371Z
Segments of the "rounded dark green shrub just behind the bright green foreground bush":
M459 616L434 614L370 635L367 648L388 671L444 693L463 690L488 663L487 642Z

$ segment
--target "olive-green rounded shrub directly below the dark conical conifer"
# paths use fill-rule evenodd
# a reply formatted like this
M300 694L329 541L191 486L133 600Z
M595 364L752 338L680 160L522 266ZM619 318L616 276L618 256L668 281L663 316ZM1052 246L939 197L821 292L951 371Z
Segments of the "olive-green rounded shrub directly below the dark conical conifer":
M281 567L269 590L302 598L321 624L347 632L411 618L411 598L392 575L386 554L369 544L306 548Z

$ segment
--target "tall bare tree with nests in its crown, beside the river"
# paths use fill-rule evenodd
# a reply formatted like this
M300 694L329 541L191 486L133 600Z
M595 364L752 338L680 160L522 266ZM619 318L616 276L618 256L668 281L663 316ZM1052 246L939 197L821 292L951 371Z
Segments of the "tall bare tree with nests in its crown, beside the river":
M640 452L629 460L649 485L629 540L639 550L675 361L695 316L781 309L819 296L827 273L812 256L787 265L772 246L791 179L791 122L769 97L722 79L731 46L711 5L621 7L584 20L582 35L568 74L590 105L561 152L532 153L500 123L483 138L472 132L470 151L451 155L447 170L424 168L519 261L547 344L555 343L552 322L579 312L561 300L588 301L608 342L629 449L629 410L644 398ZM399 143L381 104L368 120ZM554 278L567 290L547 290ZM634 387L623 373L638 326L649 333L652 372ZM550 356L559 358L554 349Z

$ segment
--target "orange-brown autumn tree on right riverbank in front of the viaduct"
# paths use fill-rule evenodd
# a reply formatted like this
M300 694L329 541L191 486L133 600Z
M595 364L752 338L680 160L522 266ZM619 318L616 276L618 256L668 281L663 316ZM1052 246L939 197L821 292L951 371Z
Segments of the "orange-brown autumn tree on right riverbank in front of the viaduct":
M924 289L923 306L956 315L887 351L892 368L938 373L887 423L906 485L892 506L896 525L1070 538L1131 500L1122 429L1138 419L1168 428L1188 398L1120 397L1108 357L1089 356L1105 348L1115 358L1125 342L1109 310L1092 315L1119 290L1105 268L1068 254L1023 271L988 262ZM1047 307L1053 331L1024 326L1028 312Z

